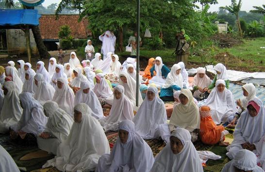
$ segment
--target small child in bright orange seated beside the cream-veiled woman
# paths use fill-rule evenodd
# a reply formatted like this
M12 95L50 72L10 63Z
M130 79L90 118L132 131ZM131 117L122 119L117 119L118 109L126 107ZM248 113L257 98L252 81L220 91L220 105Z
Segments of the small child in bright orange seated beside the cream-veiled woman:
M204 144L216 144L220 141L222 131L225 130L222 125L215 125L208 106L200 108L200 139Z

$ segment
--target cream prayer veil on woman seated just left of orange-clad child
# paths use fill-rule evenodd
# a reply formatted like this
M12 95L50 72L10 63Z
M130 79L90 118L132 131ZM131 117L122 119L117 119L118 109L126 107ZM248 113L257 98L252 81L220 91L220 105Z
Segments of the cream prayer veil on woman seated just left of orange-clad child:
M199 108L194 102L191 91L188 89L183 89L180 94L183 94L188 98L188 103L186 105L179 103L175 106L169 124L186 129L199 128L200 125Z

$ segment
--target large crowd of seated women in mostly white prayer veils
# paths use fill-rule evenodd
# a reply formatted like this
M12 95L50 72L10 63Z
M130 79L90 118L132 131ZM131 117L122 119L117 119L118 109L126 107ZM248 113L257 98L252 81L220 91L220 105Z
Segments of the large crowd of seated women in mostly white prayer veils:
M265 170L264 107L253 84L242 87L244 97L235 103L221 63L215 65L213 81L199 68L189 86L183 63L169 70L161 57L151 58L139 77L146 84L136 86L134 61L127 59L121 65L113 53L100 58L96 53L92 64L85 61L81 66L72 52L65 67L51 58L49 71L38 62L34 72L30 63L21 60L18 70L4 68L0 133L9 133L14 141L36 138L40 149L55 155L43 167L66 172L202 172L193 145L198 140L227 146L227 156L233 160L223 171ZM203 93L209 96L198 103ZM164 101L174 101L168 123ZM106 117L104 108L110 108ZM235 127L230 145L223 123ZM118 132L111 152L104 131ZM154 158L144 139L159 138L166 147ZM0 151L0 158L11 158ZM257 158L248 158L252 156ZM11 166L16 171L12 160Z

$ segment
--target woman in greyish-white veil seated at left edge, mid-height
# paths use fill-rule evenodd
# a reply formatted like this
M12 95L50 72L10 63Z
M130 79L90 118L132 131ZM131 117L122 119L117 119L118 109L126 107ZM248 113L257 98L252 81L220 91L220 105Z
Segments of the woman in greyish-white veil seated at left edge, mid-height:
M4 82L3 90L5 96L0 113L0 133L8 132L9 127L17 124L22 114L15 83L13 81Z

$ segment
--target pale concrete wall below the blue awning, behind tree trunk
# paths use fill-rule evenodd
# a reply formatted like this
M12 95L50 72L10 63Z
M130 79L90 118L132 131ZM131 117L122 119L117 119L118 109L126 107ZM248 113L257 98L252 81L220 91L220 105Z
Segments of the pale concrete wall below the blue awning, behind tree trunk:
M24 31L21 29L6 30L7 49L19 49L22 54L27 54L27 43ZM37 46L34 40L32 30L30 30L31 52L37 54Z

